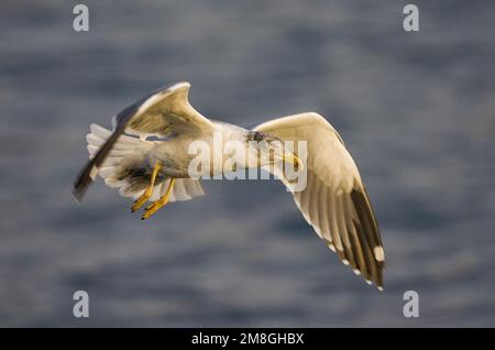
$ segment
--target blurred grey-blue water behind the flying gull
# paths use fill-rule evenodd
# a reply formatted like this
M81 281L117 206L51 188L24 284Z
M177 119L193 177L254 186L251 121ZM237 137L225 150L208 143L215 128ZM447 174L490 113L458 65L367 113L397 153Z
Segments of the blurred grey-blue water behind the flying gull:
M89 33L76 3L0 3L0 326L495 326L495 2L415 1L419 33L405 1L85 0ZM227 122L328 118L381 223L385 292L276 182L207 182L147 221L101 181L73 200L89 123L178 80Z

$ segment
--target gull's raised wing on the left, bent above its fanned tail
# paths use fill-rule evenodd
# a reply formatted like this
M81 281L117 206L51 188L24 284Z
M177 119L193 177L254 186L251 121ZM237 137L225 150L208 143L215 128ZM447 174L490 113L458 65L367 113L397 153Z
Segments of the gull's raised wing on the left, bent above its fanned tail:
M148 135L169 136L190 134L191 136L213 130L213 124L188 101L189 83L178 83L165 89L158 89L138 100L117 114L114 130L107 142L79 173L73 195L80 201L86 189L98 175L119 136L127 132L145 138Z

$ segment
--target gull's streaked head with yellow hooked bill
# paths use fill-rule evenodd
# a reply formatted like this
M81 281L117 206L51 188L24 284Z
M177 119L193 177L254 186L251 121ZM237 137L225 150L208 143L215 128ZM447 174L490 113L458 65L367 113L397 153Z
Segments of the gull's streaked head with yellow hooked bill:
M284 141L265 132L251 131L248 134L248 167L268 166L288 162L296 168L302 168L300 160L285 146Z

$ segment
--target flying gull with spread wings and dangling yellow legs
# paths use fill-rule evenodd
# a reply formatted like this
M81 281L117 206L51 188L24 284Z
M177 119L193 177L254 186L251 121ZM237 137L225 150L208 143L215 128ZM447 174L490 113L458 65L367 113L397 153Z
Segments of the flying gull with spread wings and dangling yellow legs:
M189 88L183 81L144 96L113 117L112 131L91 124L86 136L89 161L74 184L75 199L81 201L97 175L134 199L131 211L150 201L142 219L168 203L201 196L200 181L190 176L189 145L195 141L212 145L213 134L221 133L223 140L240 142L254 154L254 160L240 161L245 169L266 168L275 160L305 168L306 186L295 189L279 167L270 167L340 261L383 291L385 252L378 225L358 167L336 129L316 112L270 120L252 130L207 119L190 106ZM306 162L298 152L286 150L285 141L305 142ZM261 147L263 142L270 147ZM222 171L216 164L209 169L210 175Z

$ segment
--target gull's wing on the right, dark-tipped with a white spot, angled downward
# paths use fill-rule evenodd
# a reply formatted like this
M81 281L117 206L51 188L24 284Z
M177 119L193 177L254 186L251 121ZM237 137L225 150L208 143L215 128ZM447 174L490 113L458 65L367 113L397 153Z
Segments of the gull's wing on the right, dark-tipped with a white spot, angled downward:
M358 167L338 132L314 112L271 120L254 130L284 141L307 142L307 186L293 192L299 210L344 264L383 288L385 254L378 226Z

